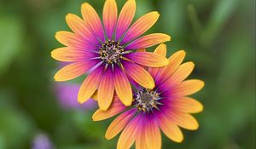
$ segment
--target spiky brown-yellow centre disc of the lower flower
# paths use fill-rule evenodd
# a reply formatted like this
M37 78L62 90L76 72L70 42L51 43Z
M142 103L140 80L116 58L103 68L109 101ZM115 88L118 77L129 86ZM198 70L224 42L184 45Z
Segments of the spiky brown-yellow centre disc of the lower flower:
M135 106L139 112L152 112L153 108L159 109L158 105L162 105L159 93L151 89L141 89L137 91L135 96Z

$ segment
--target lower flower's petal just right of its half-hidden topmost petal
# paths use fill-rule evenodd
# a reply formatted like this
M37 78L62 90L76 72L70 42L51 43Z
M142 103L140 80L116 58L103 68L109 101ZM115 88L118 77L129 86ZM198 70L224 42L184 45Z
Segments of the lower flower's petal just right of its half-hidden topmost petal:
M159 72L155 77L155 82L157 84L164 83L167 78L172 76L172 73L177 70L177 67L182 63L185 52L183 50L177 51L175 54L169 58L169 65L163 68L160 68Z

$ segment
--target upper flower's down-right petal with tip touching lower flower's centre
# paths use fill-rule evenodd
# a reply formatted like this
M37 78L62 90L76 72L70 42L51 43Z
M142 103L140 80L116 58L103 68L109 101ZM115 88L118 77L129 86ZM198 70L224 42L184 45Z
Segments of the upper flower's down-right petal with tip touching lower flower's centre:
M154 79L143 67L131 62L123 63L125 72L137 83L147 89L154 89Z

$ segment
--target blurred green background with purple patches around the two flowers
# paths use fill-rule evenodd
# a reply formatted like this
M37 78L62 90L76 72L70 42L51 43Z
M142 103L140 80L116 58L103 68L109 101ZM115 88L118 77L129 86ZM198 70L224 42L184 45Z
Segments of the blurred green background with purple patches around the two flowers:
M119 9L125 0L117 0ZM113 149L105 140L110 120L93 123L90 101L76 103L79 77L55 83L60 68L50 51L55 32L68 30L67 13L85 0L0 0L0 149ZM103 0L86 0L102 15ZM178 49L195 61L191 78L205 80L195 98L201 127L183 130L181 144L163 137L163 148L255 148L255 2L253 0L137 0L136 18L152 10L166 32L168 56ZM152 50L152 49L149 49Z

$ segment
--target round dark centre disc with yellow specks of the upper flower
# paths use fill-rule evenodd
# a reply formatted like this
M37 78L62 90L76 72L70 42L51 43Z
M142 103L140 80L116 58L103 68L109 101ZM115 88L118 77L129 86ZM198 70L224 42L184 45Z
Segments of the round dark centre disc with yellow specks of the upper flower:
M124 49L119 45L119 43L108 40L102 44L99 53L103 62L107 64L113 64L118 63L120 58L122 58Z

